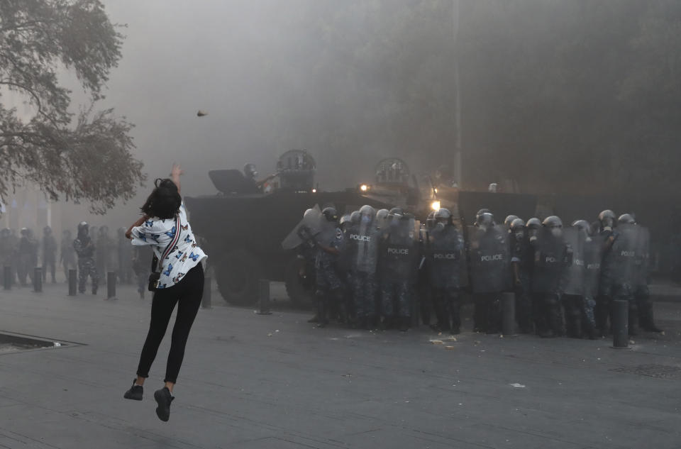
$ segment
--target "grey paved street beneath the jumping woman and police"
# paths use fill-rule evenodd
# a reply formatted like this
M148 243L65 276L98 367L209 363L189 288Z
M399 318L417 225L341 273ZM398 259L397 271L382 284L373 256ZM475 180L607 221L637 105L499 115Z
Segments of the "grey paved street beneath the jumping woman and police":
M163 423L153 390L169 336L144 401L123 399L150 300L66 293L0 291L1 331L63 343L0 351L0 448L681 448L680 302L655 304L664 336L614 350L470 321L455 340L318 329L282 301L260 316L214 292Z

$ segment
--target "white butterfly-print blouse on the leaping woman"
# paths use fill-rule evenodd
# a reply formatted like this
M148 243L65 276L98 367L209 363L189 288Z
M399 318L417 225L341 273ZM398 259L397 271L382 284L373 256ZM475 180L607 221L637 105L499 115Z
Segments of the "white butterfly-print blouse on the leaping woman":
M175 229L175 218L149 218L142 226L135 226L132 231L133 245L150 245L156 257L161 257L168 243L179 231L177 245L172 248L170 255L162 263L161 276L158 288L166 289L177 284L184 275L201 263L206 257L206 253L196 245L196 238L192 233L192 226L187 221L187 211L184 209L184 201L179 206L179 230ZM151 265L151 261L149 261ZM158 270L158 268L157 268Z

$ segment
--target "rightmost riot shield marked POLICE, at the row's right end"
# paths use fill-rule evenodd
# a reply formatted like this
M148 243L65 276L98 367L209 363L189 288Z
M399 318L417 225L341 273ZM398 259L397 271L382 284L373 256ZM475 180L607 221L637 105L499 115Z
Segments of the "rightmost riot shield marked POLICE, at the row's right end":
M641 226L620 224L616 228L615 240L612 243L612 281L614 286L635 287L638 281L638 251L641 250Z

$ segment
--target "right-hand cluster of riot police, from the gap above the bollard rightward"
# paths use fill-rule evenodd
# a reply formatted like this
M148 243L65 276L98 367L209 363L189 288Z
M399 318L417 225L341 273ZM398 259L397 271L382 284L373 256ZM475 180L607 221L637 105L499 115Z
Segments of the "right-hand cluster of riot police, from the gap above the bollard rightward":
M563 227L557 216L506 217L521 331L597 338L610 333L613 301L629 304L629 334L660 332L648 291L650 234L631 214Z

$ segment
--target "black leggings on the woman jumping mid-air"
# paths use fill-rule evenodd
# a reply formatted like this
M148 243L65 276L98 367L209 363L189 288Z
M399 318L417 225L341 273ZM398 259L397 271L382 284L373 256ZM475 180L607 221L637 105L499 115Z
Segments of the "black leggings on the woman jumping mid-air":
M163 380L163 382L177 382L179 367L182 366L182 359L184 358L184 346L187 345L189 330L192 328L194 318L196 318L196 312L199 311L203 294L204 269L200 263L189 270L187 275L184 275L182 280L173 287L154 292L151 303L151 323L144 348L142 348L142 355L140 355L140 365L137 368L138 376L149 377L149 369L156 358L161 340L165 336L172 310L175 309L175 304L178 304L175 326L172 328L165 379Z

